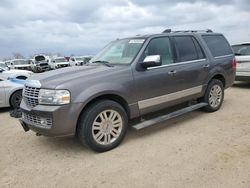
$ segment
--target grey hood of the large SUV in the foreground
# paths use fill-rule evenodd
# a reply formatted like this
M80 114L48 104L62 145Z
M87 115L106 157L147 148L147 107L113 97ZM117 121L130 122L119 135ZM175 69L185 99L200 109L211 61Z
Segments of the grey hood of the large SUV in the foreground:
M62 84L67 85L67 83L70 83L73 80L83 80L84 82L91 78L103 77L105 75L108 76L111 71L114 72L120 69L121 68L118 66L74 66L33 75L29 80L38 80L43 88L54 89Z

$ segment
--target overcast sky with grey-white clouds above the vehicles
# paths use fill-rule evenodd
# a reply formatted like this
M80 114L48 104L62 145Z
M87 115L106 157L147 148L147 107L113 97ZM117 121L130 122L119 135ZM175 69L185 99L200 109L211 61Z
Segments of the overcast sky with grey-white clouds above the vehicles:
M1 0L0 59L13 53L94 55L117 38L163 30L250 42L250 0Z

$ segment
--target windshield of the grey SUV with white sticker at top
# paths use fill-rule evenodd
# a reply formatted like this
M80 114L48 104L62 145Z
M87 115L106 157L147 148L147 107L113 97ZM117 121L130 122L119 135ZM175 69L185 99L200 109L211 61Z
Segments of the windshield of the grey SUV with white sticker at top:
M111 64L130 64L142 47L145 39L123 39L108 44L90 63L109 62Z

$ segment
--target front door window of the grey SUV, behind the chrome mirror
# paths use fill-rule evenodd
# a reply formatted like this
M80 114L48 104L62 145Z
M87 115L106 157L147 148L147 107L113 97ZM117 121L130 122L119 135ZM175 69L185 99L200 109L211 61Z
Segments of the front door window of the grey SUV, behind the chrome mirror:
M173 63L171 44L168 37L152 39L144 51L143 59L150 55L160 55L163 65Z

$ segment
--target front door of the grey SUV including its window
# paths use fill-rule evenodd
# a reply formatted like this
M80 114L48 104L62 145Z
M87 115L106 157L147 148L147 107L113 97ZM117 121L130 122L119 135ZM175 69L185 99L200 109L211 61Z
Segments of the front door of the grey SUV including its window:
M146 56L160 55L162 65L134 73L141 115L165 108L176 98L173 93L182 89L171 66L174 63L172 51L169 37L158 37L151 39L143 52L142 61Z

